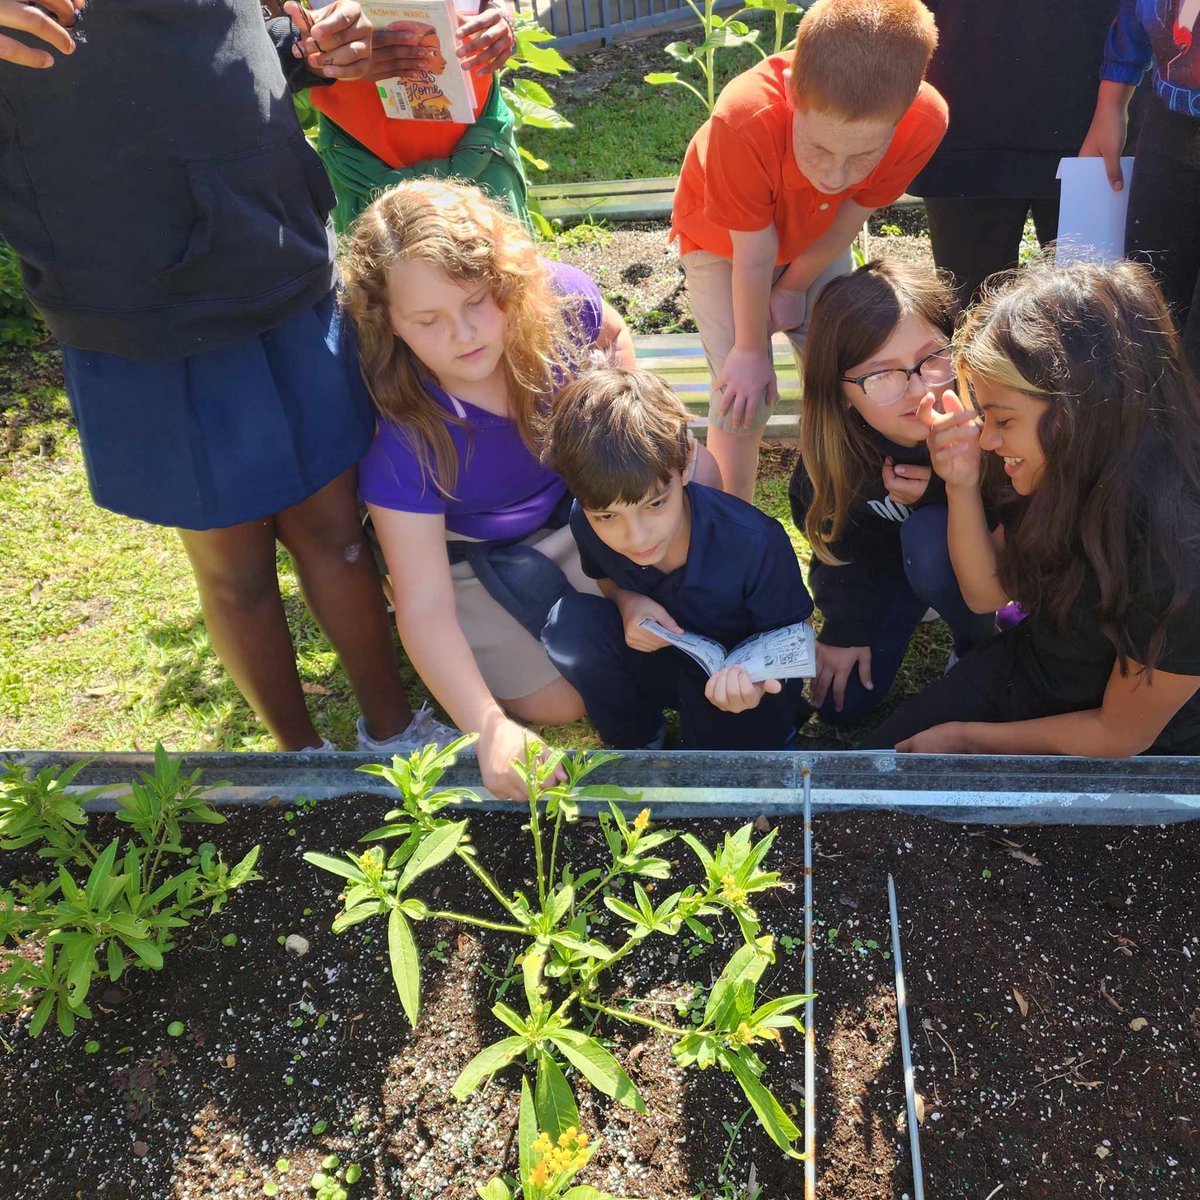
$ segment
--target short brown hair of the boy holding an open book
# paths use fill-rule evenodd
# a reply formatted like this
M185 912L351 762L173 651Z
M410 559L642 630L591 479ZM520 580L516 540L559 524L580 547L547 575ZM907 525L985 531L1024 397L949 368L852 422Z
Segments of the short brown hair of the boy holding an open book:
M637 504L691 456L688 409L649 371L588 371L563 389L542 462L584 509Z

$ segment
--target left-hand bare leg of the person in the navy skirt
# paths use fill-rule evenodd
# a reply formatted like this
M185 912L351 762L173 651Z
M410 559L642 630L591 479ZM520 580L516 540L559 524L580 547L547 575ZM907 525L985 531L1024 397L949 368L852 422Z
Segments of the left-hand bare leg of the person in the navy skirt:
M275 572L275 522L180 529L217 658L281 750L320 745Z

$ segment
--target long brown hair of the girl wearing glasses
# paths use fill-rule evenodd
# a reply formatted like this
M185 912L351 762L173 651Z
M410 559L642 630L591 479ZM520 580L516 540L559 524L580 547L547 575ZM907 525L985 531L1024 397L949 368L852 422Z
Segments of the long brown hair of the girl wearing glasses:
M905 317L940 330L949 343L955 311L949 283L902 263L868 263L821 293L804 350L800 452L812 481L804 534L822 563L840 565L832 547L866 476L881 467L869 426L847 403L841 377L870 359Z

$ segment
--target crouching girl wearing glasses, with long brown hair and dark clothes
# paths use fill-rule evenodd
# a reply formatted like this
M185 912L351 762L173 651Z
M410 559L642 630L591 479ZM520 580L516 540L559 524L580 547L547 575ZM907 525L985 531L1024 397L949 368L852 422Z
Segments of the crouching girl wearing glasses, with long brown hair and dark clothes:
M830 724L857 724L883 700L929 608L958 655L995 630L954 577L946 488L917 412L953 378L954 313L948 284L898 263L834 280L814 310L788 496L812 546L809 589L824 614L812 702Z

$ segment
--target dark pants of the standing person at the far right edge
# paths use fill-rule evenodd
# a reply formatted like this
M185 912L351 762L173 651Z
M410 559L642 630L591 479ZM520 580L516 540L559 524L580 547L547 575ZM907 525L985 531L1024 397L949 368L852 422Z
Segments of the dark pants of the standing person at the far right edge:
M1138 138L1126 253L1153 268L1200 371L1200 120L1157 98Z

